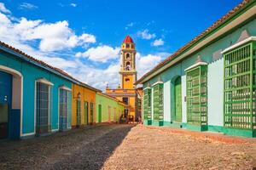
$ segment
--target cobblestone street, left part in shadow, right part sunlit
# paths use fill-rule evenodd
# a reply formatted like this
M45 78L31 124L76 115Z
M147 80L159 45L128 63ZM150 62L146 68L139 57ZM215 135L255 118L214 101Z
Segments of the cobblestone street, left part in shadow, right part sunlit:
M0 169L252 169L256 144L225 144L142 125L96 125L0 143Z

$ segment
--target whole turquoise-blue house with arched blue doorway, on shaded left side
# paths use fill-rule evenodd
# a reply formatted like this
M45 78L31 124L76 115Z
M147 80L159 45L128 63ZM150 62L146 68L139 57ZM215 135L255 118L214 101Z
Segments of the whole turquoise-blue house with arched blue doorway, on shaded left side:
M0 42L0 139L20 139L71 128L74 80Z

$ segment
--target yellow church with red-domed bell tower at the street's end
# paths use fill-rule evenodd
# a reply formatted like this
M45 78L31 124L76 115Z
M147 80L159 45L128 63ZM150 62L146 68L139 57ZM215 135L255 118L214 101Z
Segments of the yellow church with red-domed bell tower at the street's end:
M136 49L130 36L126 36L121 45L120 85L118 88L106 88L106 94L123 101L126 105L125 116L137 117L137 81Z

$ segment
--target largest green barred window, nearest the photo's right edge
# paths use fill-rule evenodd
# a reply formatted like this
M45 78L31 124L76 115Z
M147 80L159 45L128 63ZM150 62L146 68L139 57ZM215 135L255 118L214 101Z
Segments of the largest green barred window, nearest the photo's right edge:
M224 127L256 129L255 42L224 54Z

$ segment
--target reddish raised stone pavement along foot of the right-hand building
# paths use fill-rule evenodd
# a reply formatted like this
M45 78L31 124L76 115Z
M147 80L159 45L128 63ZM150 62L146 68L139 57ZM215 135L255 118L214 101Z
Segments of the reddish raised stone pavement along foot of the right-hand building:
M196 131L191 131L188 129L180 129L180 128L175 128L175 127L149 127L149 126L143 126L149 129L156 129L160 130L162 132L166 133L181 133L181 134L186 134L189 136L193 136L196 138L200 139L210 139L218 142L223 142L227 144L256 144L256 139L251 139L251 138L245 138L245 137L236 137L236 136L227 136L224 135L224 133L214 133L214 132L196 132Z

